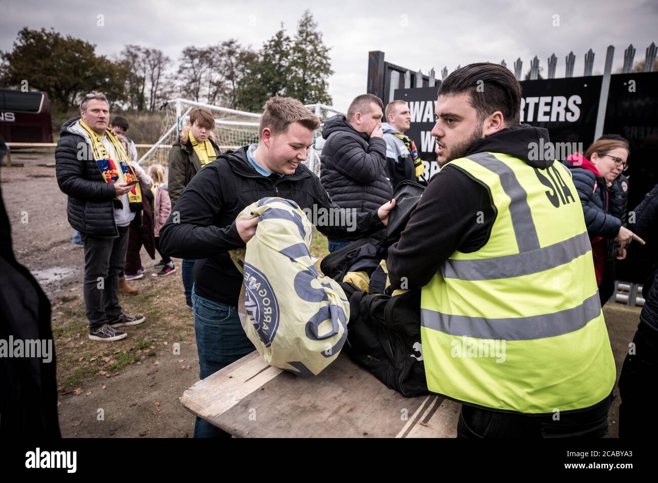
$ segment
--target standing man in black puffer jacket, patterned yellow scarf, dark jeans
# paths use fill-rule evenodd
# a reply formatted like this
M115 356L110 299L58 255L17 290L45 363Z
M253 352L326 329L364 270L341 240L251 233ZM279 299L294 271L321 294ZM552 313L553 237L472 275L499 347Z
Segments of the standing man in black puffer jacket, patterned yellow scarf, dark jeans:
M68 195L68 222L80 231L84 244L89 338L103 341L126 338L116 327L145 320L142 315L122 313L118 300L128 225L141 210L141 191L124 148L108 129L108 120L105 94L87 94L80 116L64 122L55 150L57 184Z

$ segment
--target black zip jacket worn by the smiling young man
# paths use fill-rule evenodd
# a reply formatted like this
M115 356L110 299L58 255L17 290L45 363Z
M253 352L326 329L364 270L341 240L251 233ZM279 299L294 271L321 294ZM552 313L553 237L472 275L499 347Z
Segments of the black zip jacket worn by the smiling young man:
M263 176L247 159L246 150L224 152L200 170L160 230L163 253L203 259L194 267L195 292L230 306L238 304L242 276L228 250L245 245L235 219L246 206L266 196L279 196L295 201L301 209L313 210L314 204L318 209L338 209L320 179L303 164L292 175ZM354 223L354 231L347 231L346 226L317 228L324 235L355 240L384 227L377 210L357 214Z

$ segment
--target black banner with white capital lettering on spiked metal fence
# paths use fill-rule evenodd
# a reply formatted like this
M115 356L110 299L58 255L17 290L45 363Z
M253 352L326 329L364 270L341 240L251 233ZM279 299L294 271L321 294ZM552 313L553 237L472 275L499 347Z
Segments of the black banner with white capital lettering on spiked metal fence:
M594 142L602 76L522 81L521 122L545 127L553 143L575 143L583 152ZM411 127L425 176L438 172L434 153L434 108L438 86L397 89L395 99L409 103ZM658 72L613 74L605 112L605 134L619 134L630 143L628 206L632 211L658 183ZM630 226L632 229L632 226ZM628 260L617 264L617 279L642 283L653 255L639 244Z

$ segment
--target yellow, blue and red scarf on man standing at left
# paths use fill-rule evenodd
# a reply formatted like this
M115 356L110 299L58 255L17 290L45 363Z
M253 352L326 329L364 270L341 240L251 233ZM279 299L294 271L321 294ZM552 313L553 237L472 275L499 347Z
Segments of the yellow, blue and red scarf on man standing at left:
M103 141L101 141L99 135L97 135L95 131L91 129L91 127L87 126L87 124L82 119L80 120L80 126L89 135L89 139L91 140L90 144L93 160L96 162L98 169L103 175L105 183L114 183L117 179L119 179L119 173L116 167L117 163L121 168L121 172L123 173L124 181L126 183L130 183L130 181L138 179L137 175L132 169L132 166L130 166L130 163L128 162L128 155L126 154L126 150L124 150L121 142L110 129L105 129L105 135L107 136L107 139L109 139L109 141L112 143L114 153L116 156L118 156L118 160L113 160L110 158L110 155L107 152L107 149L105 149L105 145L103 145ZM137 212L138 210L141 210L141 189L139 188L139 183L134 185L132 190L128 191L128 201L130 202L130 211ZM116 209L120 209L123 206L118 196L113 199L113 204L114 208Z

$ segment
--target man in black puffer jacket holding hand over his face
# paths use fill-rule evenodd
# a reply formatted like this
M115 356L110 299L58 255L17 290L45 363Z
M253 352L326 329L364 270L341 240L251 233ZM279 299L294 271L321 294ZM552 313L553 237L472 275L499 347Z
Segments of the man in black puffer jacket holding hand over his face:
M363 94L349 105L347 116L334 116L324 123L320 181L340 208L371 212L393 196L386 172L382 106L378 97ZM328 241L330 252L348 243Z

